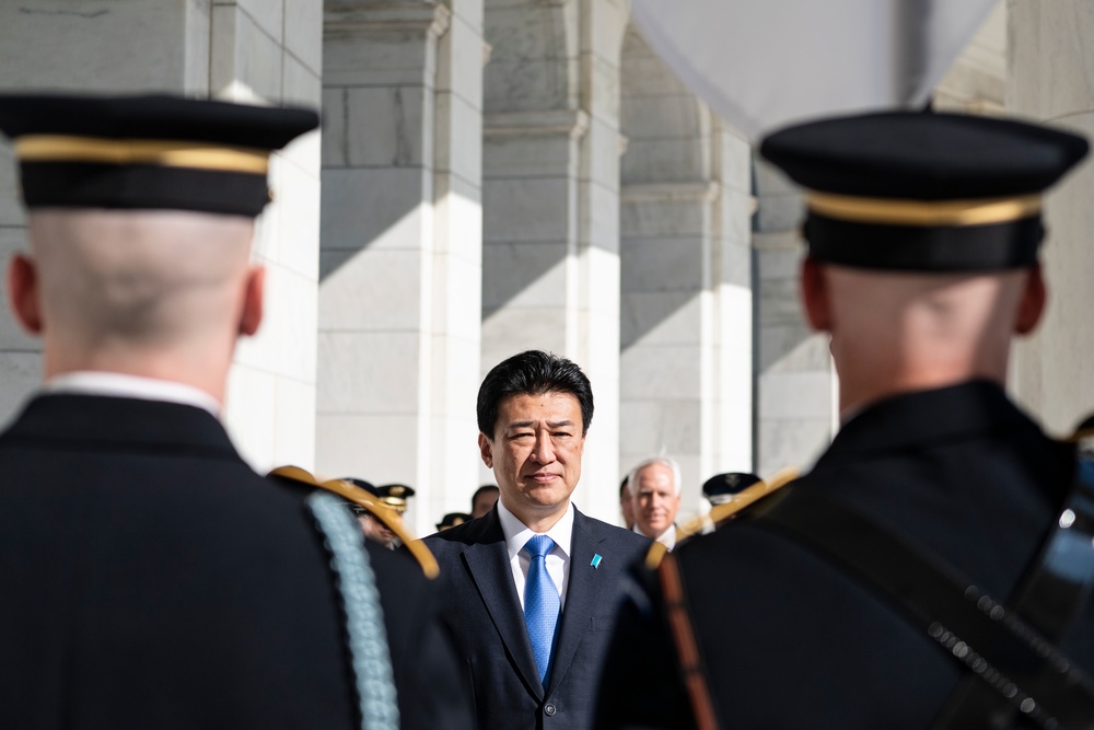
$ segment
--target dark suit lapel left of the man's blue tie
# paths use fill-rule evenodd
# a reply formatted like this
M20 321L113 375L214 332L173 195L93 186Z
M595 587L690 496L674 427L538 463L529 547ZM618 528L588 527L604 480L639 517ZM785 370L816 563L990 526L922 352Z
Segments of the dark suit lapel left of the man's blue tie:
M487 525L482 537L464 552L464 563L524 684L533 695L543 699L544 690L539 681L539 670L536 668L535 654L532 653L528 629L524 626L524 612L521 611L521 601L513 584L509 551L505 547L505 536L501 531L497 509L489 512L484 520L487 521Z

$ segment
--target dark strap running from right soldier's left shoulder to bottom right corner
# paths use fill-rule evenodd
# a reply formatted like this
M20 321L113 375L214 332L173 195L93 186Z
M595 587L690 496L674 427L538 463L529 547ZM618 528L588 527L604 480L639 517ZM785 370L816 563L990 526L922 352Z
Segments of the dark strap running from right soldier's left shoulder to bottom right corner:
M1044 728L1094 728L1094 683L1037 628L871 519L816 489L776 493L743 515L790 533L896 603L903 615ZM988 726L990 727L990 726Z

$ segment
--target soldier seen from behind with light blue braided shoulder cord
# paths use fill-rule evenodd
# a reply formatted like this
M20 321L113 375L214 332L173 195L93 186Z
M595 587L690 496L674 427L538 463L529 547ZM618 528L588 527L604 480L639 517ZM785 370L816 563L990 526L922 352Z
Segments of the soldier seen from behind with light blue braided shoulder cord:
M31 242L9 296L46 379L0 434L0 727L397 727L388 644L412 645L382 614L415 568L370 568L340 502L263 479L219 421L261 320L269 151L317 121L0 97Z

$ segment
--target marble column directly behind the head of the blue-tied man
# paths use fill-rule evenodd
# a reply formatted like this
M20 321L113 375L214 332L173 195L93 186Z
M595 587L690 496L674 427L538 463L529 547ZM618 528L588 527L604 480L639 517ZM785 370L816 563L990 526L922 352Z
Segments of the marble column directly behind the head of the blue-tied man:
M627 16L622 0L486 2L482 369L539 348L585 370L596 415L574 501L602 519L618 511L618 74Z

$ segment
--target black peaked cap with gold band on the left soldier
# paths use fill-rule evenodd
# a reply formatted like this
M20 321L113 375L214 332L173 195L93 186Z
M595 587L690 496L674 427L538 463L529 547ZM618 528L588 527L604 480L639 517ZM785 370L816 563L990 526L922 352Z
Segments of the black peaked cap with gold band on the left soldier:
M27 208L257 216L269 155L318 126L313 109L168 95L0 94Z

